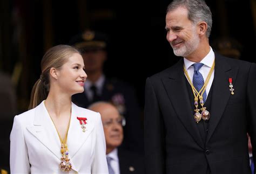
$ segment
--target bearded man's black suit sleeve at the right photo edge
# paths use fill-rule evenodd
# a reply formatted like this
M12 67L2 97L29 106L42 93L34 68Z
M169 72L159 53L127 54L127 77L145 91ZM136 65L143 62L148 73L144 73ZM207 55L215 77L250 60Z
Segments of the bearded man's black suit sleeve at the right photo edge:
M251 136L253 161L256 166L256 64L251 64L247 82L247 116ZM255 170L254 170L255 173Z

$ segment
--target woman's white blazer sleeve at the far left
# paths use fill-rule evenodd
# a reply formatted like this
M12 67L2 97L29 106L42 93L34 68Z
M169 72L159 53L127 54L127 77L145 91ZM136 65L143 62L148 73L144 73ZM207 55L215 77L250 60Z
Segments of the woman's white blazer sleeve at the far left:
M10 135L10 170L12 174L30 173L28 148L20 118L15 116Z

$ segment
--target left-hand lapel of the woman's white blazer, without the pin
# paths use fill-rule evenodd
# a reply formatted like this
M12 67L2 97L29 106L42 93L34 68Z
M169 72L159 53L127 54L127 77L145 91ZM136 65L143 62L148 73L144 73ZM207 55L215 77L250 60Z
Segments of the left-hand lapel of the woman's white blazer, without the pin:
M33 126L28 126L27 129L44 144L52 154L60 159L60 140L50 115L44 106L44 101L35 108Z

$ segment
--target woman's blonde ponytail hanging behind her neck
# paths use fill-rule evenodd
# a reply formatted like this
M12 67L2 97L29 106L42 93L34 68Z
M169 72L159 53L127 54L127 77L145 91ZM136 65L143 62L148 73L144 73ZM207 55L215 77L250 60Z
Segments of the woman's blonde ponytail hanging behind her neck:
M37 107L43 100L47 98L48 90L42 79L38 79L33 86L30 98L29 109Z

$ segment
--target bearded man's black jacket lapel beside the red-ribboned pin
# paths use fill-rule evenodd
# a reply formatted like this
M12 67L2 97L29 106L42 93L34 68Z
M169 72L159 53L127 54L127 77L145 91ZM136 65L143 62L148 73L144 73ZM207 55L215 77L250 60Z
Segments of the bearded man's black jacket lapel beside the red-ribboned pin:
M223 116L227 101L230 98L231 92L228 87L228 78L233 79L233 84L237 77L238 69L231 68L226 62L226 59L221 58L221 55L215 53L215 68L214 68L214 80L213 91L211 101L211 119L208 126L208 134L206 137L206 143L210 140L215 128L217 127L221 117Z

